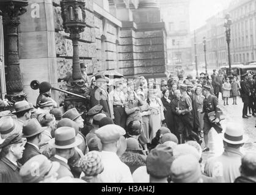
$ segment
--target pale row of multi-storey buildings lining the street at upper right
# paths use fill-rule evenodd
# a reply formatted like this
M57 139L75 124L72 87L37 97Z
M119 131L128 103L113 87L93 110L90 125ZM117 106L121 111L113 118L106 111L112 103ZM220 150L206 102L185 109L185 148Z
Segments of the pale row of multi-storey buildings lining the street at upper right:
M230 13L232 19L230 55L231 63L248 64L256 56L256 1L232 1L229 7L207 19L205 26L196 30L197 58L204 63L202 36L207 38L207 62L210 68L219 68L229 64L224 18ZM191 32L194 35L194 32ZM194 46L194 38L191 38ZM194 48L192 47L194 58Z

